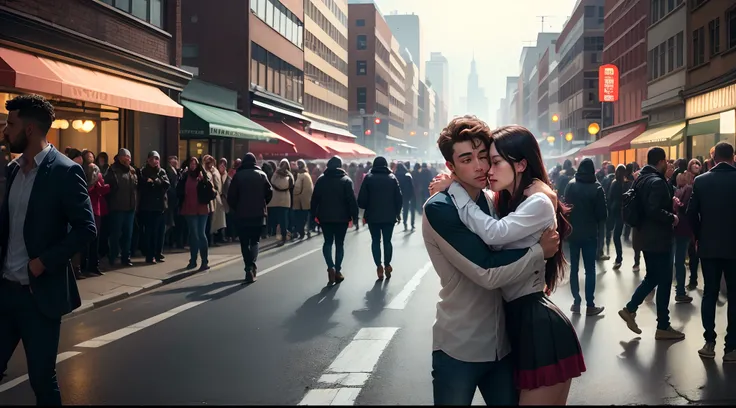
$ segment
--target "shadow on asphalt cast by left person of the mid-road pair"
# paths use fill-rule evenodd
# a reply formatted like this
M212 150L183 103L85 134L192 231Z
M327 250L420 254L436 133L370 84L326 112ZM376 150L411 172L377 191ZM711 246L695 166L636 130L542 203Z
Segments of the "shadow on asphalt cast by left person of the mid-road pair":
M340 285L328 285L316 295L310 297L284 322L286 341L299 343L320 336L337 326L337 322L330 321L332 315L340 305L340 299L335 299Z

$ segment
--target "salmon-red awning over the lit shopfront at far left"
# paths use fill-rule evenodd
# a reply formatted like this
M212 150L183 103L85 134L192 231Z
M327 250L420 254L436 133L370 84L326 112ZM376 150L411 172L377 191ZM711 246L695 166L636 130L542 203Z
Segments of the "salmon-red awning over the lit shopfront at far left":
M0 86L154 115L184 116L184 108L154 86L2 47Z

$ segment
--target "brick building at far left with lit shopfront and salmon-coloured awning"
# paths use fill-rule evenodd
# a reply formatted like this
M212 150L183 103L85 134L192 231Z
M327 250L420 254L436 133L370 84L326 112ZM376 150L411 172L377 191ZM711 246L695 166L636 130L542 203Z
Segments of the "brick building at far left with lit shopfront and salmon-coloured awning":
M150 150L177 153L177 102L191 79L177 68L181 0L0 0L0 38L3 102L49 98L57 147L111 158L126 147L136 165Z

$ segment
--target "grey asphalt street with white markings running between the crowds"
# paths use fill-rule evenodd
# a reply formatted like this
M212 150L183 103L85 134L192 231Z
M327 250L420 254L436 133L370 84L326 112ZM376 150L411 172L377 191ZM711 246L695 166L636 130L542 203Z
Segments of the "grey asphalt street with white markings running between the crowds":
M393 242L393 278L382 283L361 228L348 233L346 279L331 288L322 237L313 236L263 254L252 285L241 284L242 263L230 263L65 320L64 404L431 404L439 280L419 229L399 226ZM673 296L672 325L685 329L684 341L655 342L652 303L640 308L638 338L616 315L643 277L631 272L631 259L627 247L621 271L610 269L612 261L598 271L602 315L572 317L588 372L573 382L568 403L736 401L736 367L721 363L723 305L715 361L697 354L701 291L691 292L692 304L675 305ZM568 288L553 296L565 311ZM0 383L0 404L35 402L25 374L19 348Z

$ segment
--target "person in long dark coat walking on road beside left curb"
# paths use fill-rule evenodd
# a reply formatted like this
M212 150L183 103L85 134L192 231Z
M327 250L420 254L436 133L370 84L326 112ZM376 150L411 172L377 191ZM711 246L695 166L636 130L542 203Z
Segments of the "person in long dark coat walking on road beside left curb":
M256 165L256 156L246 153L227 191L227 202L233 213L245 263L245 283L256 281L258 244L266 222L267 205L272 198L268 176Z

